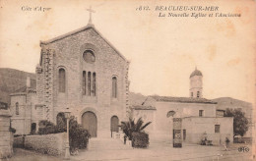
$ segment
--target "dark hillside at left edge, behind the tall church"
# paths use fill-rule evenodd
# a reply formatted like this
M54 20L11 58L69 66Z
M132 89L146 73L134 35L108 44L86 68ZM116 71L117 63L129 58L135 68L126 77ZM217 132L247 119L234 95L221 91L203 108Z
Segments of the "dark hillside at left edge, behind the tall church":
M10 104L9 94L25 86L27 77L35 79L35 74L15 69L0 68L0 101Z

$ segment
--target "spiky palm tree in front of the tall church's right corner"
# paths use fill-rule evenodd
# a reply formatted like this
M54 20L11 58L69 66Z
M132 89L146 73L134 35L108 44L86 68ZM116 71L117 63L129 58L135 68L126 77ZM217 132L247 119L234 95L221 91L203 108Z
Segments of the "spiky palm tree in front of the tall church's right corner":
M128 122L121 122L121 128L129 138L129 140L132 140L132 134L133 133L141 133L143 130L148 127L152 122L149 122L143 126L143 120L142 118L139 118L137 122L135 123L134 119L129 118Z

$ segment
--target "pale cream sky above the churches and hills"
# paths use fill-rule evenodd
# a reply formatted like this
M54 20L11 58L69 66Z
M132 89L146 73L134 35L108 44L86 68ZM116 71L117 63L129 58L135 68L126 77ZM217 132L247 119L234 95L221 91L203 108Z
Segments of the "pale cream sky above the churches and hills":
M0 0L0 5L0 68L34 73L39 41L85 27L92 6L96 29L131 62L131 91L189 96L189 76L197 67L205 98L255 100L254 1ZM50 9L33 11L37 6ZM136 11L140 6L151 10ZM217 6L214 13L241 17L160 18L157 6ZM28 8L32 11L22 10Z

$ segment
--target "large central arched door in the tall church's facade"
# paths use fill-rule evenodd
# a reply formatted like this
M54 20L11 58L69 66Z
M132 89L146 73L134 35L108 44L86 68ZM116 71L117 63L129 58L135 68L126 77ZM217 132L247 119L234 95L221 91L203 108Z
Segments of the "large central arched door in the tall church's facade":
M88 111L85 112L82 116L82 125L88 130L92 137L96 137L96 114Z

